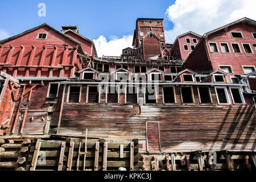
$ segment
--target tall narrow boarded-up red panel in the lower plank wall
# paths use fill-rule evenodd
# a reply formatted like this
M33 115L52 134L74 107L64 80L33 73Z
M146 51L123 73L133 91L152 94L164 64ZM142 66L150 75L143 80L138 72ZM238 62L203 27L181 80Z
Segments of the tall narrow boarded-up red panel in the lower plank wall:
M147 151L160 151L159 123L146 122Z

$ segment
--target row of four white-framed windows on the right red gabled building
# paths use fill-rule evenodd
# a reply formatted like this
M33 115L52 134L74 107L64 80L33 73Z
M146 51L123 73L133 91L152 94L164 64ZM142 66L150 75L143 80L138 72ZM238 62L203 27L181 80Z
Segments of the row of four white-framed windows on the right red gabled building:
M243 51L245 53L253 53L251 46L249 43L241 43ZM240 49L239 43L230 43L233 53L242 53ZM209 43L210 52L219 53L217 43ZM253 44L254 51L256 52L256 44ZM229 44L228 43L220 43L220 48L222 53L230 53Z

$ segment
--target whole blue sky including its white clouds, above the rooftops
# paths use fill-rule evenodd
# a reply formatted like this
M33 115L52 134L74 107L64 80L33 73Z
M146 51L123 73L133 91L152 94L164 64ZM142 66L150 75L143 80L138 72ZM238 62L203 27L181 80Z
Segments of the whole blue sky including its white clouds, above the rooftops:
M39 3L46 4L46 17L38 16ZM119 56L132 47L137 18L164 18L166 42L174 43L188 31L203 35L245 16L256 20L255 7L251 0L1 0L0 40L42 23L57 30L75 24L98 56Z

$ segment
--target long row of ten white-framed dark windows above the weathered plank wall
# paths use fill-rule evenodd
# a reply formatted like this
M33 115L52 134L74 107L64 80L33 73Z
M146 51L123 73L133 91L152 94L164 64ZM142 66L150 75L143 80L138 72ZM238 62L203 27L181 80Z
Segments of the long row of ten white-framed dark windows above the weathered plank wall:
M138 86L125 86L125 104L139 104L139 87ZM105 93L106 104L119 104L120 86L108 86ZM163 104L176 104L175 86L163 86ZM182 104L195 104L195 96L192 86L180 86L180 97ZM230 104L228 89L226 86L214 87L217 103ZM81 102L81 86L69 86L67 102L70 104L79 104ZM242 89L238 87L229 87L229 92L232 97L233 104L245 104ZM158 104L158 91L154 86L145 87L143 92L144 104ZM199 95L200 104L213 104L212 94L210 88L206 86L198 86L197 93ZM100 93L98 87L95 85L88 85L86 91L87 104L100 104Z

